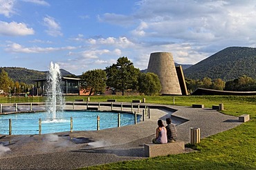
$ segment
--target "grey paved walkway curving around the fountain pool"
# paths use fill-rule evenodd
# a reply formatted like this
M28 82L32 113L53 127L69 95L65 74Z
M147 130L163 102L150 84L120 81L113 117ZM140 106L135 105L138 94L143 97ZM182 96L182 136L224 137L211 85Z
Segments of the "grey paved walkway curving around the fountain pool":
M137 125L41 136L0 135L0 169L76 169L145 158L143 144L154 138L157 120L170 116L163 106L177 110L172 120L181 123L177 125L178 138L185 143L190 142L190 127L199 127L201 138L205 138L241 124L235 116L208 108L154 106L162 109L150 109L150 119Z

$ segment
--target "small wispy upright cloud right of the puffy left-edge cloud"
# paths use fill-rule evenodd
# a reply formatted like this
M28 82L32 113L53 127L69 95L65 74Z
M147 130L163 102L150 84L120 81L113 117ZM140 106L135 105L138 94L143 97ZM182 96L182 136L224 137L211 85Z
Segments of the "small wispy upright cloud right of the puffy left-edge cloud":
M44 17L44 25L48 28L47 34L51 36L62 36L60 24L55 21L53 17Z

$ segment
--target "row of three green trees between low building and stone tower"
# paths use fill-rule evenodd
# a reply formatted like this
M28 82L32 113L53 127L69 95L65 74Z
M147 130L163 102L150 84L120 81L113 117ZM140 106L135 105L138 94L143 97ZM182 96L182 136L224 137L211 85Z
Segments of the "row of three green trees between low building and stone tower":
M104 92L106 86L113 87L125 94L126 89L136 89L141 94L155 95L161 92L161 83L154 73L142 73L125 56L106 70L89 70L81 76L81 88L89 94Z

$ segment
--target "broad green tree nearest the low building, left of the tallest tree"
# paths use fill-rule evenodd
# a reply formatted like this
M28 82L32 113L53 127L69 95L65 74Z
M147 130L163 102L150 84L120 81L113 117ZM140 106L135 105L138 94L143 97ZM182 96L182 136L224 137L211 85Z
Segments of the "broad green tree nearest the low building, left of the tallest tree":
M90 96L93 93L103 93L107 86L107 74L101 69L84 72L81 79L80 88L84 89L84 92L89 92Z

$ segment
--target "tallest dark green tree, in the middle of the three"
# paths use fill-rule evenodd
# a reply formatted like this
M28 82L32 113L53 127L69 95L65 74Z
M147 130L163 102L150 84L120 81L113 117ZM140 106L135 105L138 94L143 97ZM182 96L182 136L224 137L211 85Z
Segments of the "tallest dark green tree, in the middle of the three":
M138 85L138 74L140 70L134 67L129 59L122 56L117 63L106 67L107 85L122 90L122 96L125 89L136 89Z

